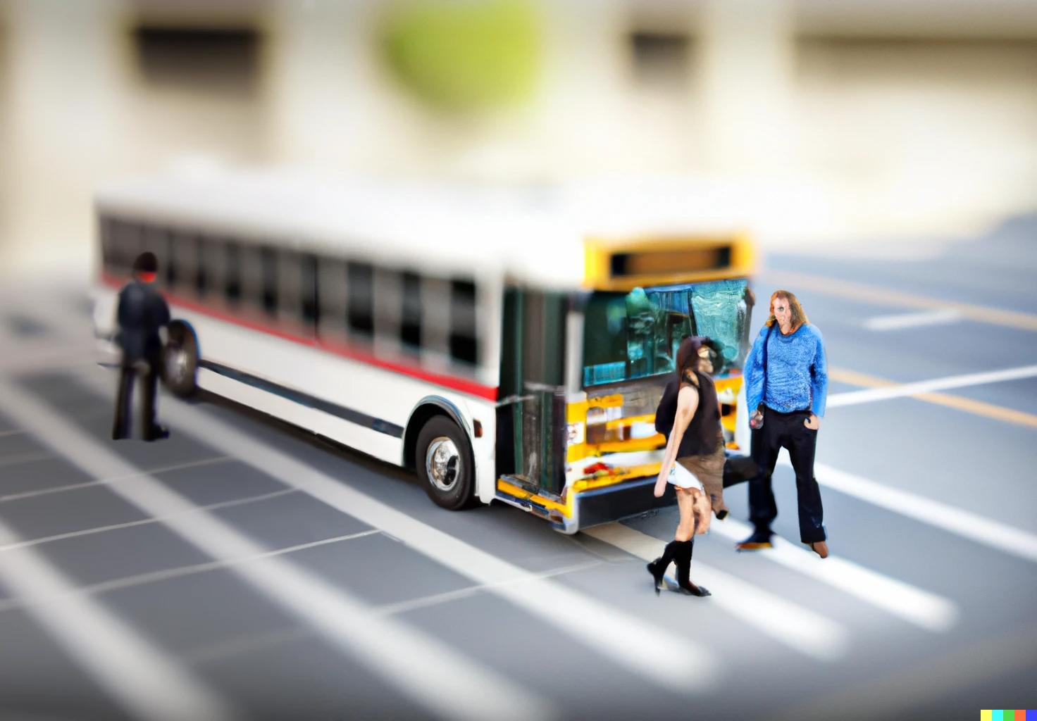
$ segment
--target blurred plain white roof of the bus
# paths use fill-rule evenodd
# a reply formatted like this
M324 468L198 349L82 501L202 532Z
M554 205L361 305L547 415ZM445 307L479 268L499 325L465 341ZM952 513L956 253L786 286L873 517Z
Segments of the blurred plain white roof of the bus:
M666 179L492 188L220 171L128 178L94 202L125 221L565 289L584 285L588 238L636 246L739 234L708 193Z

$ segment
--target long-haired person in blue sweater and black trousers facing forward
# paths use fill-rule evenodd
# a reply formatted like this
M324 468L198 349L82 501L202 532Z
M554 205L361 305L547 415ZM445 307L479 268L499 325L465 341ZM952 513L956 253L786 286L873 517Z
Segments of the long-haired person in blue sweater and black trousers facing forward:
M778 517L778 506L770 475L784 448L795 470L800 540L825 558L824 514L814 479L817 430L824 417L829 390L824 340L787 290L770 296L770 317L746 358L744 382L746 407L755 409L750 417L752 457L760 474L749 482L749 520L755 529L737 548L772 547L770 523Z

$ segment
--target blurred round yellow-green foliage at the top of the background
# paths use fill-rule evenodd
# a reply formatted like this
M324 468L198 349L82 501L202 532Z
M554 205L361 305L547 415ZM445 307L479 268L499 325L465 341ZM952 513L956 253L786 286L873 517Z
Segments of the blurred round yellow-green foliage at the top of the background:
M444 110L517 105L536 85L540 26L530 0L397 0L381 40L397 79Z

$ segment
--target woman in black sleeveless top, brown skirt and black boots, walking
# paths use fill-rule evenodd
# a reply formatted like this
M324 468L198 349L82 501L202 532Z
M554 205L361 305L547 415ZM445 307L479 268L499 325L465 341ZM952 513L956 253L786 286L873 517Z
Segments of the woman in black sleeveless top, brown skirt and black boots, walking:
M662 496L669 481L677 492L680 523L674 540L663 555L648 564L658 594L663 575L670 561L677 564L677 583L690 596L709 596L709 592L691 582L692 550L695 536L709 529L709 516L727 516L723 497L724 432L720 425L717 388L709 376L714 368L714 344L708 338L685 338L677 350L677 377L667 384L656 410L656 427L672 428L666 444L663 467L655 482L655 495ZM676 391L676 394L674 394ZM673 397L676 395L676 403ZM672 409L671 409L672 408ZM672 419L672 425L671 425ZM698 483L670 479L674 462L680 463Z

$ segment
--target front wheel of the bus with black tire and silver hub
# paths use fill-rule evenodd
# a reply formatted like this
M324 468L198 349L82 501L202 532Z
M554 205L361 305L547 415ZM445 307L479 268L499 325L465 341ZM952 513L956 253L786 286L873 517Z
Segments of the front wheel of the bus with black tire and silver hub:
M418 434L414 460L418 479L437 506L460 511L474 503L475 459L468 437L453 421L430 417Z

